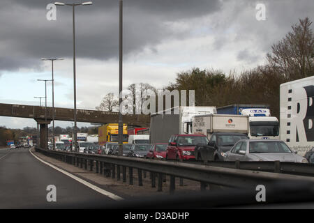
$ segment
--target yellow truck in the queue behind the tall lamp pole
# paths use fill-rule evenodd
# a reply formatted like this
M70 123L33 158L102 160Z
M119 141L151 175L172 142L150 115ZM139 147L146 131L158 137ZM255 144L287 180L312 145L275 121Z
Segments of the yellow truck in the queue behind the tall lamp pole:
M123 143L128 143L128 125L124 124L124 136ZM100 146L104 146L107 142L118 142L118 123L110 123L102 125L98 128L98 143Z

